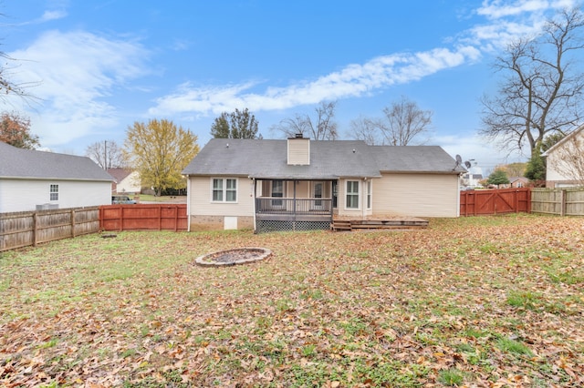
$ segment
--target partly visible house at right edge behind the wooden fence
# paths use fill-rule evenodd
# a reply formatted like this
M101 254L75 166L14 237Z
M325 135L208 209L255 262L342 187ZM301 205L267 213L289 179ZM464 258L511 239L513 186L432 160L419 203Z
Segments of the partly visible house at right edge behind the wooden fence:
M584 124L547 149L546 187L584 185Z

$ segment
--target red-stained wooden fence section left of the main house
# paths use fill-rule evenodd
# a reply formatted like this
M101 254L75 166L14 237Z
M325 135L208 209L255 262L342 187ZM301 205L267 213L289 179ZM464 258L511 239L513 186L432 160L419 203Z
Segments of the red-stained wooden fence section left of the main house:
M187 230L186 204L99 207L101 230Z

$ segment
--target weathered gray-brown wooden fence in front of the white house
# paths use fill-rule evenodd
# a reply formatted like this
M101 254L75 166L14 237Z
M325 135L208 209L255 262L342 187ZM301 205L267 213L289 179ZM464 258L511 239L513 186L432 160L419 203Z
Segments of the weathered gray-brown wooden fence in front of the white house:
M98 207L0 213L0 251L98 231Z

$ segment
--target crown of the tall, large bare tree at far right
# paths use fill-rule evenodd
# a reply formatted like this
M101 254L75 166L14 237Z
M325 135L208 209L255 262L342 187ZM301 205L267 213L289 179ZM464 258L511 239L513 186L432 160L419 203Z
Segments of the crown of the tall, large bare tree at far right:
M506 77L495 97L483 97L481 134L501 148L529 148L531 155L547 134L579 124L584 74L576 59L584 47L584 18L576 8L549 20L542 34L522 38L499 56L495 69Z

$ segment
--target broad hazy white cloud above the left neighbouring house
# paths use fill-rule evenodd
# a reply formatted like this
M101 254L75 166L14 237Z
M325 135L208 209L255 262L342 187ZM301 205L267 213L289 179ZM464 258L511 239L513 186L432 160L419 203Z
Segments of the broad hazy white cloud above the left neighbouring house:
M21 64L16 77L39 83L30 91L40 106L29 115L33 132L50 147L115 125L116 109L102 98L143 76L148 53L135 42L50 31L9 55Z

